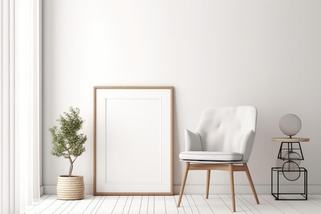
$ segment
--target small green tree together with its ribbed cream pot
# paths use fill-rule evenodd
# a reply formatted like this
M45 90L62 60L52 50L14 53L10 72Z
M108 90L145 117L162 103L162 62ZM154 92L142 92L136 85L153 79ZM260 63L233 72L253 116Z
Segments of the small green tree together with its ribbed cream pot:
M51 154L57 157L64 157L69 160L69 173L59 176L57 181L57 198L62 200L78 200L84 198L84 177L72 175L73 163L86 149L84 143L87 136L78 133L85 122L79 116L80 109L69 108L70 112L64 112L57 120L59 126L49 128L52 135Z

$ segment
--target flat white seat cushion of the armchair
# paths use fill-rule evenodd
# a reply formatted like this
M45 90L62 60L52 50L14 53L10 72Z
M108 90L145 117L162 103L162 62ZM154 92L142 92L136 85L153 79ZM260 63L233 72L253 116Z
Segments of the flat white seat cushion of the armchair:
M243 154L222 151L183 151L179 153L180 160L191 161L241 161Z

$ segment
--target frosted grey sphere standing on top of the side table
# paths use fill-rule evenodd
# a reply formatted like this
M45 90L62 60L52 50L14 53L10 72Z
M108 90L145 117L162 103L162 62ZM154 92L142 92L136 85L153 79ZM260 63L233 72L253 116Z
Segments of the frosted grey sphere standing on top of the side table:
M301 120L295 114L286 114L279 122L281 131L290 136L290 138L300 131L301 125Z

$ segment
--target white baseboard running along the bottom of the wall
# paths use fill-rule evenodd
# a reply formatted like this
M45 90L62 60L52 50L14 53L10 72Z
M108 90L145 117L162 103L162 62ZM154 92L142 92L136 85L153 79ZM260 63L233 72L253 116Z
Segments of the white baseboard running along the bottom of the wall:
M44 185L41 187L43 194L56 194L56 185ZM302 185L280 185L283 192L301 191ZM205 185L186 185L185 194L205 194ZM235 185L235 194L252 194L249 185ZM271 185L255 185L257 194L271 194ZM174 194L179 194L180 185L173 186ZM210 185L210 194L230 194L229 185ZM93 194L93 185L85 185L85 194ZM321 194L321 185L308 185L308 194Z

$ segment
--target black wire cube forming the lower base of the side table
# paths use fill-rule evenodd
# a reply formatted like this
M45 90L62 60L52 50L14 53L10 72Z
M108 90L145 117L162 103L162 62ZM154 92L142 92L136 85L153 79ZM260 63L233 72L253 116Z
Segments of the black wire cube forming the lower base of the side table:
M275 200L307 200L308 199L308 170L304 167L299 167L299 170L286 170L287 172L304 172L304 192L303 193L280 193L279 192L279 172L283 172L283 168L281 167L272 167L271 168L271 194L275 198ZM277 174L277 192L273 192L273 172ZM283 176L283 175L282 175ZM300 194L303 196L303 199L280 199L280 194Z

